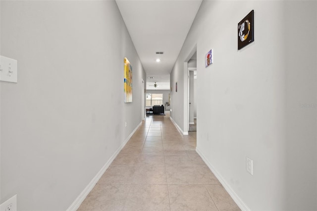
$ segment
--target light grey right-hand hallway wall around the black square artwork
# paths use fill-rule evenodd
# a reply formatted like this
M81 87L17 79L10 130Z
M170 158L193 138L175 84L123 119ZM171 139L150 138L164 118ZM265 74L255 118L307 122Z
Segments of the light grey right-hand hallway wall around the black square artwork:
M197 45L197 151L243 209L317 210L316 107L300 106L317 103L316 8L316 1L203 1L171 72L181 87L183 62ZM252 9L255 42L238 51L237 23ZM210 49L214 63L205 68ZM177 120L180 94L172 96Z

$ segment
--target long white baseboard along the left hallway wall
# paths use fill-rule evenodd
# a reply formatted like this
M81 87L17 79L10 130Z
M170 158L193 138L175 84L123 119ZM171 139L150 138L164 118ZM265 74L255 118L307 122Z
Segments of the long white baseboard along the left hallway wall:
M80 195L75 199L75 201L69 206L69 208L66 211L76 211L81 203L86 199L90 191L95 187L99 179L103 176L103 174L106 172L108 167L110 166L111 162L114 160L115 157L119 154L119 152L122 150L122 148L126 145L126 143L129 141L131 136L135 133L135 131L142 125L142 122L132 131L132 133L124 140L122 145L114 152L114 154L108 159L106 164L100 169L100 171L97 173L97 175L90 181L90 183L86 186L86 188L80 193Z

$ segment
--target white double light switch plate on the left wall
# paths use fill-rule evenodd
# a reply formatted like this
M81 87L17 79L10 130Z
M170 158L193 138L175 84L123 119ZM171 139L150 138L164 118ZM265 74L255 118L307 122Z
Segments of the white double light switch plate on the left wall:
M18 61L5 56L0 56L0 81L18 82Z

